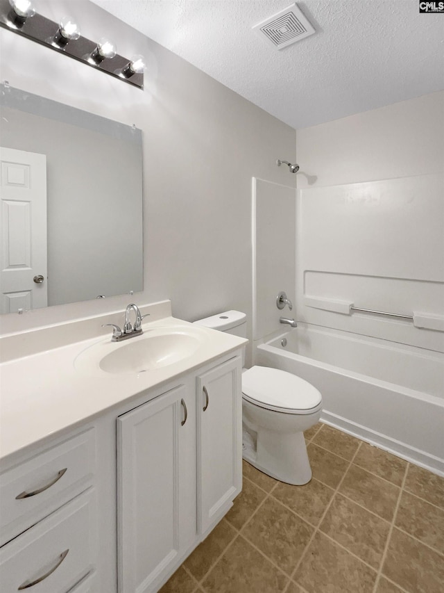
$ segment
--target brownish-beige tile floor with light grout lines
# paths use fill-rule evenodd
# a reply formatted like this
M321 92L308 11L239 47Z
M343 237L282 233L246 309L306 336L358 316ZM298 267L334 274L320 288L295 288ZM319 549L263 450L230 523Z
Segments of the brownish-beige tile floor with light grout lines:
M305 433L313 478L244 462L244 489L161 593L444 593L444 478L349 434Z

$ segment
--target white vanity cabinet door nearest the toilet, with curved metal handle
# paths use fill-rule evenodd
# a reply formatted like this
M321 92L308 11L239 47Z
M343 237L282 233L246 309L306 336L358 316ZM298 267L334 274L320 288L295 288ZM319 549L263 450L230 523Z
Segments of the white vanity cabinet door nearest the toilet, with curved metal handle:
M197 377L198 533L221 519L242 487L241 357Z

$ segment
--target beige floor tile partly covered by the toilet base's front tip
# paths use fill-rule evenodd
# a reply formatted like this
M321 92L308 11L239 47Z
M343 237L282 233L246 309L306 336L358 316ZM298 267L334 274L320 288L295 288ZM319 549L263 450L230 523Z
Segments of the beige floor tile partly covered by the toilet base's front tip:
M332 488L312 478L304 486L291 486L281 482L273 490L272 496L297 512L300 517L317 526L333 494Z

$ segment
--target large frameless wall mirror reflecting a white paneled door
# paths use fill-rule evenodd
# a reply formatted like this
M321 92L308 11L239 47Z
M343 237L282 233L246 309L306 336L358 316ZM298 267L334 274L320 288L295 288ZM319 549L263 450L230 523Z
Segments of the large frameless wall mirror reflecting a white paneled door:
M1 313L143 290L142 131L0 86Z

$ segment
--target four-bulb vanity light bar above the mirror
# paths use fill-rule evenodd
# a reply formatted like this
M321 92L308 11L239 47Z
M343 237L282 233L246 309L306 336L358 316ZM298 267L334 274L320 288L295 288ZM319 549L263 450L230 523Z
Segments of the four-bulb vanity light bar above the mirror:
M72 17L57 23L36 13L32 0L0 0L0 26L130 85L144 88L146 67L142 56L128 60L117 54L110 39L102 37L97 42L83 37Z

